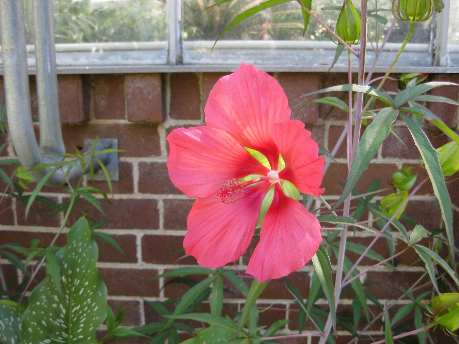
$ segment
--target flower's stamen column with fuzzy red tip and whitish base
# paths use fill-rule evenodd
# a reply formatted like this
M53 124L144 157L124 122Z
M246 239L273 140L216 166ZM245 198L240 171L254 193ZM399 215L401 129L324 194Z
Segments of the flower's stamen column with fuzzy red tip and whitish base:
M234 203L244 198L244 188L254 183L269 181L270 183L277 183L279 179L279 171L269 171L264 177L257 177L247 182L243 182L241 178L232 178L222 183L217 189L217 198L223 203Z

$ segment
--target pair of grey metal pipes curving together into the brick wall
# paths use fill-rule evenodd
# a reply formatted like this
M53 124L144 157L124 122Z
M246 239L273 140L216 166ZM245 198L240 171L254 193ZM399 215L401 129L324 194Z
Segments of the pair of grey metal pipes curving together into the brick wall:
M65 153L57 96L54 30L47 31L53 28L52 0L34 0L34 12L41 150L35 137L30 108L23 1L0 0L8 126L14 149L26 170L40 164L62 161L62 157L57 155ZM106 161L107 157L100 158ZM62 185L67 179L71 181L81 176L81 170L73 168L68 172L68 168L65 166L56 171L48 184ZM29 173L35 180L40 180L50 169L44 167Z

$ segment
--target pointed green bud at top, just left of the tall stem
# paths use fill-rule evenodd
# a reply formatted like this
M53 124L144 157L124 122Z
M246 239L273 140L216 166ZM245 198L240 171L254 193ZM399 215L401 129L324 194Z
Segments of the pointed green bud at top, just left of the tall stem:
M360 15L351 0L344 0L338 21L336 34L347 44L357 44L360 39Z

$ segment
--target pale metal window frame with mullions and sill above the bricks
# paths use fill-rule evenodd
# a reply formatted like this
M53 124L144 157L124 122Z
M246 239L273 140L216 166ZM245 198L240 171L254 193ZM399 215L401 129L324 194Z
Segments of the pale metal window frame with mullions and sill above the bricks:
M222 40L214 54L209 55L213 42L183 40L182 0L166 1L167 41L56 44L57 73L230 72L241 61L269 72L326 72L333 60L333 43L311 41ZM431 44L408 44L404 53L406 58L399 60L394 72L459 72L459 67L452 67L448 61L450 1L443 0L445 8L442 13L435 14ZM399 46L386 44L382 64L376 65L376 72L386 72L386 61L392 60ZM27 52L28 73L35 74L34 46L28 46ZM371 62L373 52L368 50L368 56ZM332 71L347 71L346 56L341 59ZM326 63L319 64L318 61ZM357 61L353 63L357 64ZM3 74L2 65L0 74Z

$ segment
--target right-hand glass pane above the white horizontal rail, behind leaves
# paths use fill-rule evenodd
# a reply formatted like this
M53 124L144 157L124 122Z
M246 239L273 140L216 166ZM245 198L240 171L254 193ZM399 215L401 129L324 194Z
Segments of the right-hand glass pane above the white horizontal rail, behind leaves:
M184 39L185 40L215 40L225 28L233 22L237 14L260 4L260 0L235 0L209 10L206 7L215 0L184 0ZM382 42L384 34L392 21L391 0L369 0L368 31L372 42ZM342 0L315 0L313 13L330 28L335 27ZM381 22L388 22L383 24ZM312 40L329 41L330 35L317 21L310 19L308 31L303 37L303 17L301 7L295 1L260 11L236 24L221 39L233 40ZM401 43L409 29L409 23L397 21L391 34L390 42ZM431 36L431 21L417 23L410 43L429 43ZM217 45L218 46L218 45Z

